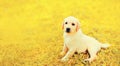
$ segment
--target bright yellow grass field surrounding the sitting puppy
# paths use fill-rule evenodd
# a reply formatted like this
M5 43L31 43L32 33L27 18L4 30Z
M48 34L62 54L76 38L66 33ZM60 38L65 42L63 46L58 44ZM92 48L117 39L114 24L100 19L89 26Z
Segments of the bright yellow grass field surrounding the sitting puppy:
M75 16L81 29L111 47L91 66L120 66L119 0L0 0L0 66L84 66L88 55L59 62L61 24Z

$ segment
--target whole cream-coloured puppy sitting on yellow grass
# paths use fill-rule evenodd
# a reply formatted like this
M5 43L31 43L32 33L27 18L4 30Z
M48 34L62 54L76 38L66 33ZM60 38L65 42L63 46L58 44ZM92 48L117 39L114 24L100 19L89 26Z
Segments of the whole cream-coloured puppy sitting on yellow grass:
M107 48L109 44L102 44L96 39L82 33L79 20L75 17L67 17L64 19L62 29L64 31L64 46L61 55L65 55L61 61L68 61L75 53L89 52L90 57L85 61L91 62L96 58L97 52L101 48Z

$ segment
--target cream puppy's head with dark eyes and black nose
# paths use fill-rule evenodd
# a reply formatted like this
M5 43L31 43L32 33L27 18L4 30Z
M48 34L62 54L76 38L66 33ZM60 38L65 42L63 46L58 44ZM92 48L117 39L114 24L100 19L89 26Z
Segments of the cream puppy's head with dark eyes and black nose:
M66 33L75 33L79 30L79 27L80 27L79 20L72 16L65 18L62 25L62 29Z

